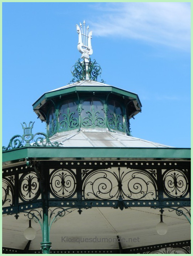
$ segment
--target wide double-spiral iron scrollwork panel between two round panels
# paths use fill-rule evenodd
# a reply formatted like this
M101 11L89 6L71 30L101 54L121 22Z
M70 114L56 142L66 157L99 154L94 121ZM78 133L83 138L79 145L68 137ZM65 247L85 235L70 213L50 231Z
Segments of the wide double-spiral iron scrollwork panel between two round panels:
M156 179L148 171L120 169L96 170L85 174L83 183L85 199L157 199Z

